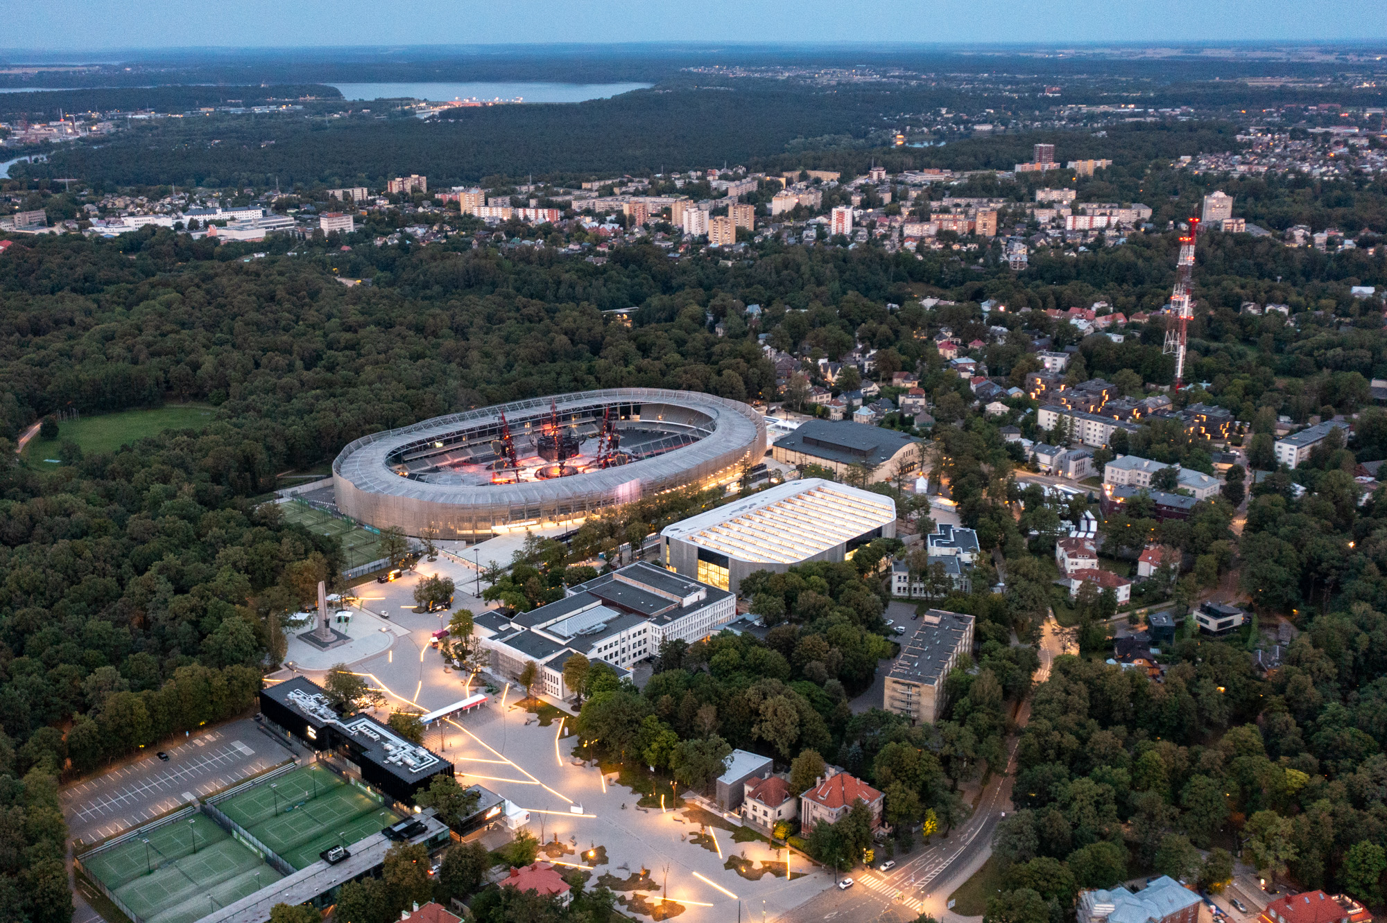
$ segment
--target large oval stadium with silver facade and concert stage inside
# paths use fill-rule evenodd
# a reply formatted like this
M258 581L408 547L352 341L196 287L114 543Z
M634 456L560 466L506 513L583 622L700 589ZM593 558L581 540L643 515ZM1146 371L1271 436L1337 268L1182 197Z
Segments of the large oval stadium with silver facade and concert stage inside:
M739 474L766 421L738 401L610 388L434 417L356 439L333 461L337 507L377 528L480 540Z

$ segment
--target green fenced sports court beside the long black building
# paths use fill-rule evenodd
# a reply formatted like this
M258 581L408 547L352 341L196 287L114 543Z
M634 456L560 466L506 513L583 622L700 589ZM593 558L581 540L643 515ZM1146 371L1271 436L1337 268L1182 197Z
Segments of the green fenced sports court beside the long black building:
M318 862L327 847L350 847L399 820L377 798L312 765L216 807L295 869Z

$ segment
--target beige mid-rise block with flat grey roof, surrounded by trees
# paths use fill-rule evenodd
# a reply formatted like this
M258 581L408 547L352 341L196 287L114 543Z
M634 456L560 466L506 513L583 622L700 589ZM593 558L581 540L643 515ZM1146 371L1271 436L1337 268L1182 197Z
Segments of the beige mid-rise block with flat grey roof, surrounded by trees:
M886 674L882 708L910 719L910 723L933 723L943 714L945 679L958 665L958 658L972 654L974 617L932 608L917 621L910 640Z

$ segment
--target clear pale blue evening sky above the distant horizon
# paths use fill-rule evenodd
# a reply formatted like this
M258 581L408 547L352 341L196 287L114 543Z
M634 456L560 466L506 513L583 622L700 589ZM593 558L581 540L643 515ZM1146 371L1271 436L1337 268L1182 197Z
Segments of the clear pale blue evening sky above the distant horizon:
M1384 0L0 0L0 47L1387 39ZM14 60L12 54L6 54Z

